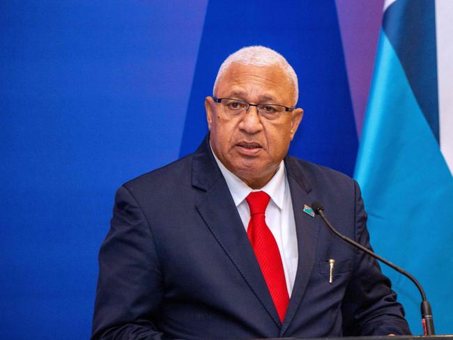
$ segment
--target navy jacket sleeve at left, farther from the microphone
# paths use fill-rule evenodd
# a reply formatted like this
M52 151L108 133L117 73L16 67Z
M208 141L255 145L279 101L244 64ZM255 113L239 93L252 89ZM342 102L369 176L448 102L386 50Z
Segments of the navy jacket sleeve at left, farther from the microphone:
M120 187L99 252L92 339L165 339L152 322L161 300L153 234L131 192Z

